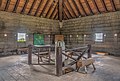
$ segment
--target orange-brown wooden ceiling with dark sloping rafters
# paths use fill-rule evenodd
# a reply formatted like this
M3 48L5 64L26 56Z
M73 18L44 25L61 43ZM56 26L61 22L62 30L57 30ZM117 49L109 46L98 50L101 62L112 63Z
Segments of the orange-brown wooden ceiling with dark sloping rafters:
M0 0L0 10L58 20L61 0ZM62 0L62 19L115 12L120 0Z

